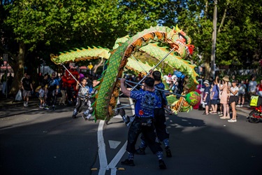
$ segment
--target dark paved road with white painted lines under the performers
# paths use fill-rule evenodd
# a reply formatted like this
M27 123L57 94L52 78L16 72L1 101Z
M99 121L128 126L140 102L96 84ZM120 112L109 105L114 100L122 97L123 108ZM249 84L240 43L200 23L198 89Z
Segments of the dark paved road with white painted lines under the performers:
M149 149L135 167L120 165L128 127L119 116L105 125L73 120L72 107L13 110L0 112L8 113L0 118L0 174L262 174L262 123L248 123L245 113L237 123L197 110L167 116L173 158L160 170Z

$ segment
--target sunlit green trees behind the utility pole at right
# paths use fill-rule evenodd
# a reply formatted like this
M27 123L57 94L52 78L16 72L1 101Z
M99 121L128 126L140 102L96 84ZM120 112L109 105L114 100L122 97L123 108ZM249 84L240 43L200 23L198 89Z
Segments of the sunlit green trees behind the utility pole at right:
M217 66L235 64L235 69L246 66L247 57L259 62L261 58L262 1L218 1ZM210 76L213 1L184 1L178 6L177 23L191 36L195 52L191 59L205 65L205 76ZM200 58L200 59L199 59ZM198 62L201 60L201 62Z

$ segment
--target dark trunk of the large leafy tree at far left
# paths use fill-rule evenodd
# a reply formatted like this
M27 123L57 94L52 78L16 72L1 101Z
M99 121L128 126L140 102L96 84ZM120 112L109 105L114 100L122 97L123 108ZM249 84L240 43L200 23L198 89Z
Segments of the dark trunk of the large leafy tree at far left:
M19 52L17 57L14 57L13 62L10 62L14 71L14 79L12 83L12 88L10 94L15 95L21 86L21 78L24 76L24 53L25 45L24 43L19 44Z

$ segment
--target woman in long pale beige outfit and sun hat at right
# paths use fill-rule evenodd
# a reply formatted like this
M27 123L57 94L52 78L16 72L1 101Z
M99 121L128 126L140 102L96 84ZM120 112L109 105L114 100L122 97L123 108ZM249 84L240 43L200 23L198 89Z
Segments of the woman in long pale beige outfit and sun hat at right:
M220 96L220 104L223 105L223 116L221 116L221 119L230 119L229 116L229 105L228 105L228 88L229 88L229 77L224 76L222 78L222 85L219 86L219 90L221 91Z

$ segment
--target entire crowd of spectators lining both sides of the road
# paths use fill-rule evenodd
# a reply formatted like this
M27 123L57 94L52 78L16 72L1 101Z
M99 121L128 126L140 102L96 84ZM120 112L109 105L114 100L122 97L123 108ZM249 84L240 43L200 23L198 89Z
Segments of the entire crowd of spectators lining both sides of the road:
M75 79L79 81L84 77L87 78L88 86L92 86L94 78L100 78L100 75L90 74L89 71L87 73L78 72L74 75L77 75ZM51 75L49 73L45 73L44 75L39 73L38 80L36 80L36 82L38 82L36 87L36 85L34 85L35 81L31 80L29 73L24 73L24 77L21 80L21 90L24 87L27 89L21 93L24 99L24 106L28 106L29 97L33 94L39 97L40 108L44 108L45 106L52 106L53 108L56 104L75 105L78 94L78 90L75 89L76 81L72 84L63 82L63 79L68 79L67 76L66 70L62 73L51 73ZM138 83L143 76L141 73L138 73L137 76L135 74L125 74L124 78ZM173 73L168 73L164 75L163 78L165 79L167 90L176 94L182 93L185 78L182 72L174 69ZM6 94L6 88L9 92L13 83L12 74L10 73L9 76L3 74L3 76L1 76L1 83L3 84L2 94ZM133 87L136 83L129 83L127 87ZM31 84L33 87L31 87ZM260 78L260 80L257 81L256 76L251 76L250 79L238 79L235 78L235 76L217 77L214 78L214 80L205 80L205 78L202 78L202 83L197 86L197 89L202 91L202 104L205 109L205 115L218 114L221 116L221 119L231 119L230 109L232 110L233 116L235 116L235 107L241 108L245 104L249 104L252 95L262 97L262 79Z

